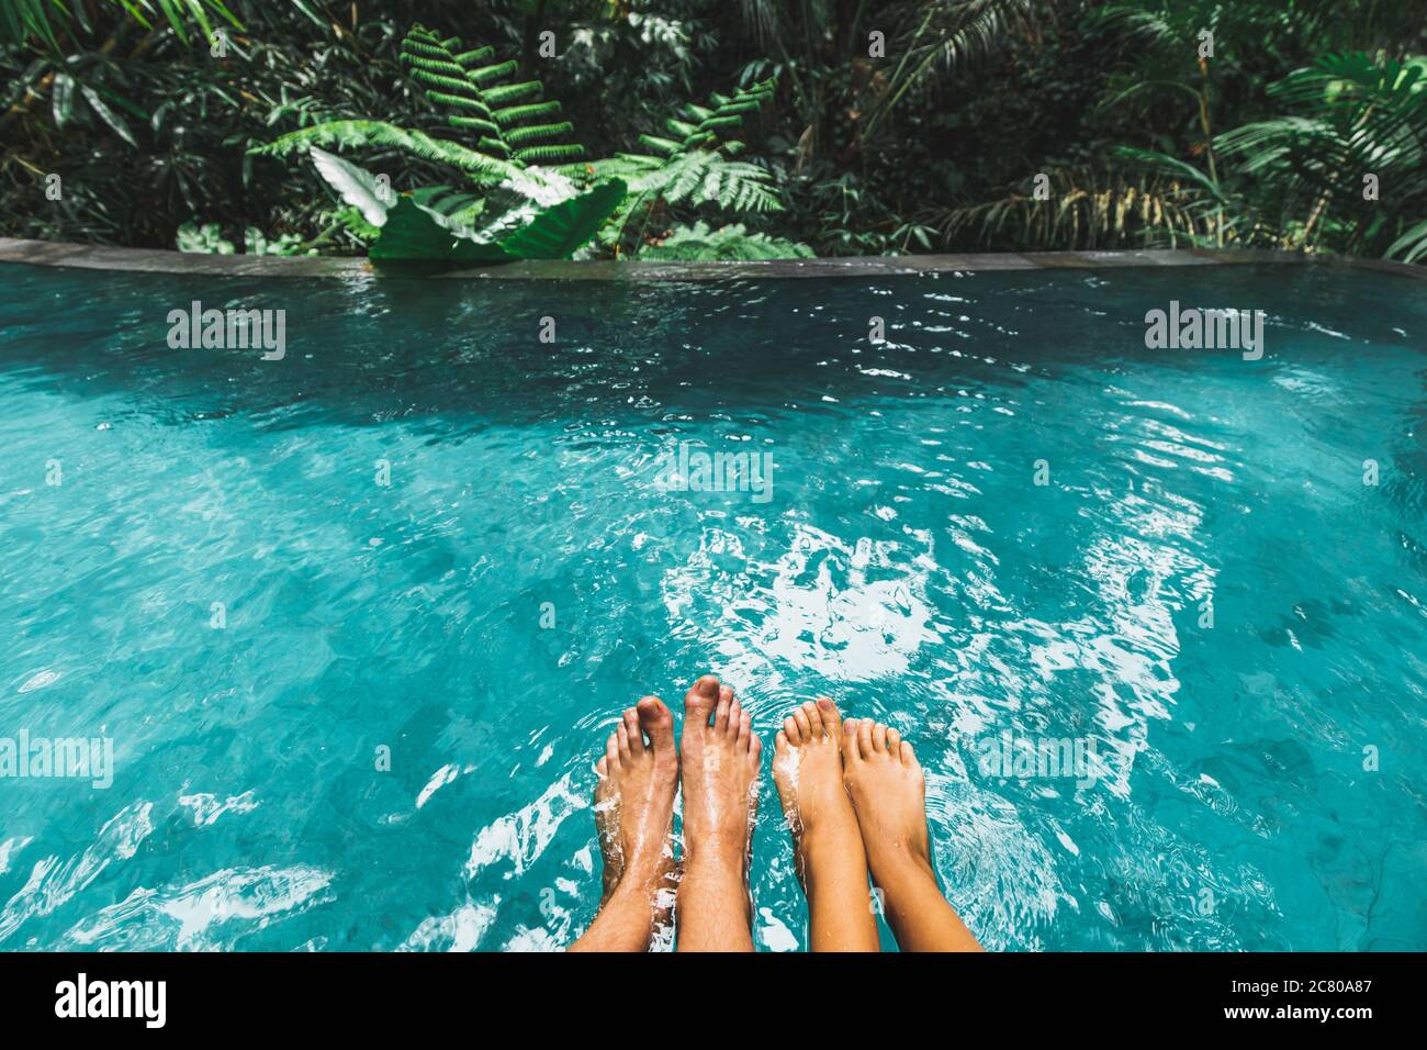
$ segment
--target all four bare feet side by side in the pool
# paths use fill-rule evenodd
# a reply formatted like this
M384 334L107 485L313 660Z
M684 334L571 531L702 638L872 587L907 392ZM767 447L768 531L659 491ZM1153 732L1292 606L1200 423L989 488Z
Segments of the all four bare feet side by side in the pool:
M684 709L678 750L674 717L651 696L624 713L595 767L604 899L572 950L646 949L671 917L675 889L679 950L753 947L748 864L762 743L733 690L711 674L694 683ZM876 951L878 910L905 950L977 947L936 886L922 767L896 730L843 721L821 699L783 720L775 751L815 951ZM676 864L681 774L685 850Z

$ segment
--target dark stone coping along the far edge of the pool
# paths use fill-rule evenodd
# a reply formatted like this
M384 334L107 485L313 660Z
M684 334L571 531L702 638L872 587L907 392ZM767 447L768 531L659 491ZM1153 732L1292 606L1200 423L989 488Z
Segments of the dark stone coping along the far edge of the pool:
M277 256L207 256L156 249L111 249L0 237L0 263L71 266L84 270L137 273L211 273L234 277L365 277L375 270L365 259ZM977 270L1080 270L1126 266L1224 266L1241 263L1313 263L1351 266L1427 280L1427 266L1376 259L1304 256L1261 249L1220 251L1164 249L1130 251L1027 251L930 256L863 256L855 259L776 259L748 263L648 263L648 261L541 261L442 270L441 280L631 280L686 281L738 277L886 277L919 273L975 273Z

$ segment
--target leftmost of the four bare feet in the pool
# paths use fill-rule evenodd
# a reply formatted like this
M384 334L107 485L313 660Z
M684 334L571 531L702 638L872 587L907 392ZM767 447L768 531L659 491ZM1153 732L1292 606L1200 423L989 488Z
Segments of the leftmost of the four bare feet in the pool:
M648 741L645 737L648 736ZM572 951L642 951L674 903L674 716L646 696L619 720L595 763L595 827L604 857L599 914Z

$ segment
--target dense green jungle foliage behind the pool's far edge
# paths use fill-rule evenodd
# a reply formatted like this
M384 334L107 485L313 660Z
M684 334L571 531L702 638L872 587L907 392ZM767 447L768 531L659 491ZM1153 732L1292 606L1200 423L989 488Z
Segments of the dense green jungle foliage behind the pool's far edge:
M0 233L1427 261L1424 53L1427 0L0 0Z

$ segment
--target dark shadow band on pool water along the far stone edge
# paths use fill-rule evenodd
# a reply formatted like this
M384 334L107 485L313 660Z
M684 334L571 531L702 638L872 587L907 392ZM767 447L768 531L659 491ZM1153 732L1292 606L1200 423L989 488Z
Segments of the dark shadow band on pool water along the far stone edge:
M1410 344L1420 333L1390 317L1427 317L1411 281L1310 267L1289 267L1286 281L1283 269L639 284L278 283L7 266L0 374L53 384L61 396L120 394L173 424L234 414L270 427L422 417L440 417L442 429L462 417L492 426L656 423L956 396L987 384L1013 390L1036 377L1085 376L1086 364L1095 381L1106 380L1150 353L1144 310L1166 307L1166 290L1179 287L1184 304L1263 309L1270 327L1311 306L1310 327L1374 344ZM284 310L285 356L170 349L168 313L193 301ZM875 319L885 329L880 346L870 339ZM542 341L551 324L552 341ZM1293 347L1296 360L1336 349L1327 337ZM1156 360L1166 363L1220 369L1233 359Z

